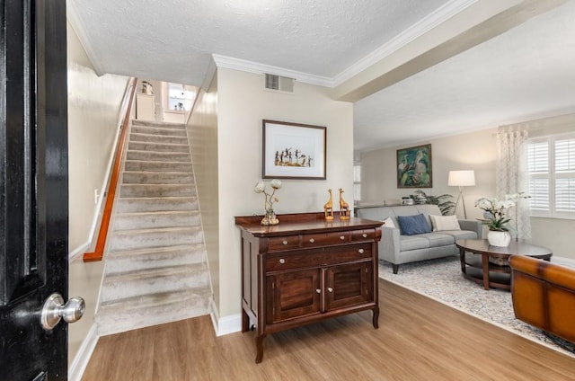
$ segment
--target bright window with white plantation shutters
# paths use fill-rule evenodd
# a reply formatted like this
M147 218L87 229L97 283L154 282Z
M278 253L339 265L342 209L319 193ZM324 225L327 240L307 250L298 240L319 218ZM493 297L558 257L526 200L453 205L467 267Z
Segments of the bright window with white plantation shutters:
M575 218L575 135L527 143L532 215Z

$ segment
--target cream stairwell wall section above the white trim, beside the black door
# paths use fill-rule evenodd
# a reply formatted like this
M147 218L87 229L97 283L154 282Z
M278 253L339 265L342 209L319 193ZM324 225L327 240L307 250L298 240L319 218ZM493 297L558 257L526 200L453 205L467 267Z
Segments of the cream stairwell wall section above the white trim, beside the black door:
M69 250L89 244L118 136L119 107L128 77L98 76L74 29L67 28Z

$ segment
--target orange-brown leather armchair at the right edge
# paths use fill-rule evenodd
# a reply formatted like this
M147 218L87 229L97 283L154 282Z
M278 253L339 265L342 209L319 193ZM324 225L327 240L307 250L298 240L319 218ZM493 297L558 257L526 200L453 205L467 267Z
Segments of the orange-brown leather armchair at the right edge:
M517 319L575 342L575 269L525 255L509 265Z

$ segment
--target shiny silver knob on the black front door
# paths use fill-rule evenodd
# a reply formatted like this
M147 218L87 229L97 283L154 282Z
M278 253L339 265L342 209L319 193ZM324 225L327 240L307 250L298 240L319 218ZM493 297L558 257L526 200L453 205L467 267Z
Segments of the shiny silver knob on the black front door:
M70 297L64 304L64 298L54 293L44 302L40 323L46 331L51 331L60 319L64 319L66 323L77 322L84 315L85 309L86 305L82 297Z

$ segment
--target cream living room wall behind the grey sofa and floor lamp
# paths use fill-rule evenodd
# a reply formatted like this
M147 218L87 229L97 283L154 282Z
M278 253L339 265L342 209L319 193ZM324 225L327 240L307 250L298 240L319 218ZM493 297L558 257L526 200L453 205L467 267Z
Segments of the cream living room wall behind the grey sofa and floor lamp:
M433 188L423 188L427 194L453 195L457 199L457 187L447 186L447 176L453 170L474 170L474 187L464 188L465 210L467 218L482 217L480 209L474 207L475 199L495 194L495 146L496 128L485 129L464 135L443 137L419 142L431 144ZM361 154L361 203L382 203L399 200L416 189L397 188L396 150L406 146L385 148ZM456 209L463 217L463 205Z

